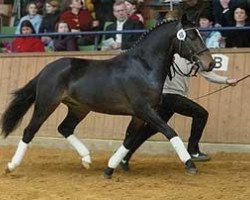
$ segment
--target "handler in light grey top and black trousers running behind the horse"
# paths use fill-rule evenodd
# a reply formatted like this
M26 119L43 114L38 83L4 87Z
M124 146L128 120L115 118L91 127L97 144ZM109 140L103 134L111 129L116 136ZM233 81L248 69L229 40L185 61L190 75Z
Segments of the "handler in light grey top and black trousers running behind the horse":
M181 58L178 54L175 55L175 62L180 70L187 74L191 70L191 65L187 60ZM237 79L229 79L224 76L217 75L214 72L198 71L198 73L213 83L236 85ZM175 76L170 80L166 79L163 87L162 103L159 106L159 114L166 122L178 113L187 117L192 117L191 134L188 140L187 150L193 161L209 161L211 158L206 153L200 151L199 141L201 139L203 130L206 126L208 119L208 112L201 105L187 98L189 89L189 77L175 73ZM127 130L127 135L131 130ZM135 130L133 130L135 131ZM134 142L133 147L129 150L128 154L121 161L120 166L123 170L129 170L129 160L133 153L151 136L157 133L156 130L148 124L137 129L138 137ZM127 136L126 135L126 136Z

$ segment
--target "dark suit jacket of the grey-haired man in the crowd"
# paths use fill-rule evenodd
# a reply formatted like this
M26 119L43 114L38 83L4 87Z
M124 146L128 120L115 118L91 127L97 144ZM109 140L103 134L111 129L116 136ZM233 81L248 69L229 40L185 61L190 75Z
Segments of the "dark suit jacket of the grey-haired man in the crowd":
M107 26L106 30L107 31L115 31L116 30L116 22L110 24L109 26ZM123 30L140 30L140 29L144 29L144 25L141 22L136 22L133 20L128 19L124 24L123 24ZM116 34L110 34L110 35L106 35L105 39L109 39L109 38L114 38L114 40L116 39L115 37ZM134 44L134 42L136 42L139 37L140 37L140 33L132 33L132 34L122 34L122 43L121 43L121 49L129 49L130 47L132 47L132 45Z

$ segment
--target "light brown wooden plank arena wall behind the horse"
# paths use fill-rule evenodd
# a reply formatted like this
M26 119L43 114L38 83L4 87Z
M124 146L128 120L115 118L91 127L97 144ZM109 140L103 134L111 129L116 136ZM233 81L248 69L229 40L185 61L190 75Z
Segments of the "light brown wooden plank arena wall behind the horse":
M229 56L229 69L218 74L241 78L250 74L250 49L221 49L213 51ZM22 87L43 67L61 57L79 57L107 59L116 55L114 52L63 52L37 54L1 54L0 55L0 115L11 99L11 92ZM221 88L222 85L209 83L200 76L192 78L190 97L196 98ZM208 97L197 100L209 111L209 120L202 138L203 142L250 144L250 78ZM64 119L67 108L61 105L45 122L37 133L42 137L62 137L57 126ZM32 109L28 112L13 135L21 135L27 125ZM91 113L77 127L76 133L81 138L123 139L130 117L110 116ZM191 120L175 115L171 126L187 141ZM165 138L157 134L152 140Z

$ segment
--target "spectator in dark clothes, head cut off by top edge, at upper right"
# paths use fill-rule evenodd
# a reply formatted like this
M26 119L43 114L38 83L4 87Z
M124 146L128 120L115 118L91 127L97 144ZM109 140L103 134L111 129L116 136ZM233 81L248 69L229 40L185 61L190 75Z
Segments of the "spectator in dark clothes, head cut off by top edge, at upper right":
M230 26L233 21L233 10L239 0L213 0L215 27Z

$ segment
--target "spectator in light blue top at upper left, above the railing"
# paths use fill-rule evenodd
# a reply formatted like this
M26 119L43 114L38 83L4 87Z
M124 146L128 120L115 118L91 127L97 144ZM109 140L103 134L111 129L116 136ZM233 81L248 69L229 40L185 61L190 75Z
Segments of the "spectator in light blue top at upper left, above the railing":
M16 28L16 34L20 34L21 32L21 28L20 28L20 25L21 23L24 21L24 20L29 20L34 29L35 29L35 33L38 33L39 32L39 28L40 28L40 25L41 25L41 22L42 22L42 16L39 15L37 12L37 7L36 7L36 4L34 2L31 2L27 5L26 7L26 11L27 11L27 15L23 16Z

